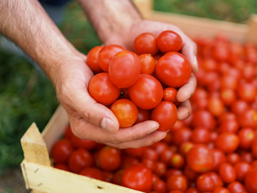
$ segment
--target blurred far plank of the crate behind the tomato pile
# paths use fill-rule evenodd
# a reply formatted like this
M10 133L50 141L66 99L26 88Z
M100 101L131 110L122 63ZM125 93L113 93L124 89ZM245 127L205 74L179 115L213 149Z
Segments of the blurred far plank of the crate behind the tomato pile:
M248 25L246 24L217 21L159 11L152 11L146 19L172 23L192 38L214 37L219 33L223 33L227 35L230 40L243 43L246 40L246 34L248 31Z

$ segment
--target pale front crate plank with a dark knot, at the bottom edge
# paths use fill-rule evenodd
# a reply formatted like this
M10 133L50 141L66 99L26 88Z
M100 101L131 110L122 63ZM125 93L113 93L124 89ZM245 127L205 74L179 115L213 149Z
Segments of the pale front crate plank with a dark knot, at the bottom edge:
M46 193L141 193L122 186L89 178L83 175L22 162L29 181L29 188Z

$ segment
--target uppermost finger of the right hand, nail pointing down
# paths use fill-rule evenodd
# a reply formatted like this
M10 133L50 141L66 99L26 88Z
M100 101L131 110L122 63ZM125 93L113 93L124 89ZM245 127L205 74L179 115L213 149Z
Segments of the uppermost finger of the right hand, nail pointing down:
M197 62L197 46L196 44L188 37L183 37L183 46L181 49L181 54L183 54L191 64L192 72L195 73L198 71L198 62Z

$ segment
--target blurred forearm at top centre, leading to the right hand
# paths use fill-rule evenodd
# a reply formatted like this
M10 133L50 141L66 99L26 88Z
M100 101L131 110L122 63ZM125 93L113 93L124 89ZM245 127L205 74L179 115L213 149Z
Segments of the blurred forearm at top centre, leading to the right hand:
M105 43L110 35L119 34L141 16L130 0L78 0L99 38Z

